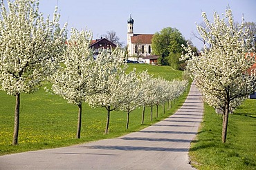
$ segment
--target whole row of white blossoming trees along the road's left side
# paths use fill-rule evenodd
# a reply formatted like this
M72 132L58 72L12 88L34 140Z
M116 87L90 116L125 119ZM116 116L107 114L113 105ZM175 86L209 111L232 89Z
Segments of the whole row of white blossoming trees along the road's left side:
M53 19L39 13L39 0L0 2L0 87L16 96L15 127L12 145L18 144L20 94L36 92L43 83L52 84L49 91L68 103L77 105L77 138L80 138L82 103L107 110L105 134L113 110L129 114L139 106L163 105L178 97L187 81L165 81L147 72L127 73L125 54L117 47L102 50L97 59L89 48L91 32L60 28L57 8ZM147 77L147 78L145 78ZM156 114L157 116L157 114Z

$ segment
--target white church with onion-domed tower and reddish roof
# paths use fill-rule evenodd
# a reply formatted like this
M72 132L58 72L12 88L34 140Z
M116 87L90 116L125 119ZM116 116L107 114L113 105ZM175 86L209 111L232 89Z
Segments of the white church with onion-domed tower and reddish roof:
M152 55L152 37L154 34L134 34L134 19L127 20L127 52L131 61L143 61L143 57Z

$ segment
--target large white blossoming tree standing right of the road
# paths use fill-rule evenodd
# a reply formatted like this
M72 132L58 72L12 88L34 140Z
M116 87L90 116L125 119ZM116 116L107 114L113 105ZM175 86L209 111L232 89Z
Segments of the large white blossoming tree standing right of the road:
M226 142L230 106L235 108L239 101L255 90L255 71L247 72L255 62L255 56L246 56L253 37L248 36L244 19L235 27L229 8L222 19L215 12L212 23L205 12L202 16L206 27L198 25L197 30L209 48L205 45L201 56L196 56L190 47L184 47L188 53L183 59L187 60L187 68L196 80L203 100L223 109L222 142Z

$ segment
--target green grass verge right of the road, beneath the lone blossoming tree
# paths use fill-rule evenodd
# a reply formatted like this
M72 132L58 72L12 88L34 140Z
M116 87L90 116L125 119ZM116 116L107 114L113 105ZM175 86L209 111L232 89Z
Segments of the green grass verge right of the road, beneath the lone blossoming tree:
M247 99L230 114L227 142L221 142L221 115L204 105L203 123L190 148L196 169L256 169L256 100Z

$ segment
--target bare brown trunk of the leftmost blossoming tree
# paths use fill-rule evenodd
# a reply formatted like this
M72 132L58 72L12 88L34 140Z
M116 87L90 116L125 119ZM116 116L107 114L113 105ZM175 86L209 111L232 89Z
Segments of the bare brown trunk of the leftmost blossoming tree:
M18 145L20 95L21 95L21 94L16 94L15 127L14 127L14 131L13 131L12 145Z

